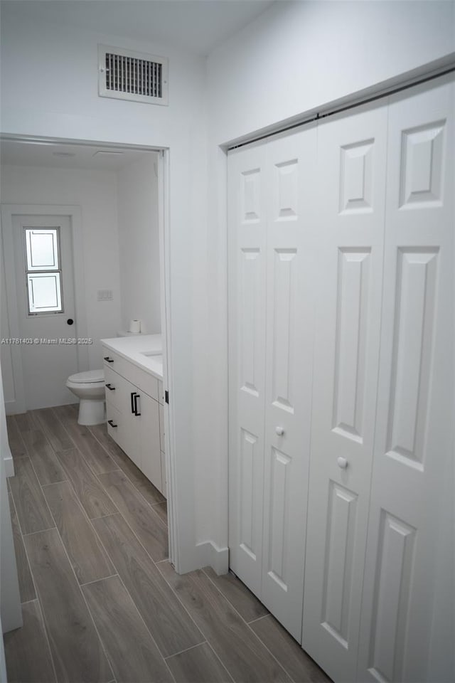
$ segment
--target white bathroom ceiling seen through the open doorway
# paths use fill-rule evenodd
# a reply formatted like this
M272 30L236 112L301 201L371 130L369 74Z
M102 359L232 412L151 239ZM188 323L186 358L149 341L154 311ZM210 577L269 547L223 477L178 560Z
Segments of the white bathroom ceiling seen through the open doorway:
M150 154L150 152L126 147L54 144L52 142L19 142L17 140L1 140L0 142L0 162L12 166L118 171L132 164L143 154Z

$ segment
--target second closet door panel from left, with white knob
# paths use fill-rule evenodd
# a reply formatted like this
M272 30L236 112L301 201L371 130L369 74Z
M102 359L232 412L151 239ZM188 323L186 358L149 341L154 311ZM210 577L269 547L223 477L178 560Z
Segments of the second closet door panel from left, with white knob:
M301 640L313 352L316 128L267 144L262 601Z

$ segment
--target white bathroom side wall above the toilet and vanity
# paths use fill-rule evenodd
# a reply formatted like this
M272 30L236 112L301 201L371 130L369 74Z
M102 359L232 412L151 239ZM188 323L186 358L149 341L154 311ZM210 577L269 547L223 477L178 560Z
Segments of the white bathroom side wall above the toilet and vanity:
M161 332L157 155L118 171L122 329L141 320L141 332Z

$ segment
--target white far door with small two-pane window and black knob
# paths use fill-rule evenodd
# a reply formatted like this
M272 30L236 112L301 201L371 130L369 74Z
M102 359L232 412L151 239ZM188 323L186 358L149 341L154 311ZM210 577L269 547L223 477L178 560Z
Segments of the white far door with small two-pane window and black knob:
M72 403L65 382L78 370L77 345L63 341L77 339L70 218L13 216L13 239L19 337L38 340L21 344L26 409Z

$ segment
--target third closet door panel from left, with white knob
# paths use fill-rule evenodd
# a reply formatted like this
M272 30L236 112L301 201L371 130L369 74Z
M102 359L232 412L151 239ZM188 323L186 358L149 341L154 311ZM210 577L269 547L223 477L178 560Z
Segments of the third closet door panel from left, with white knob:
M387 108L318 129L314 394L302 647L355 679L375 428Z

